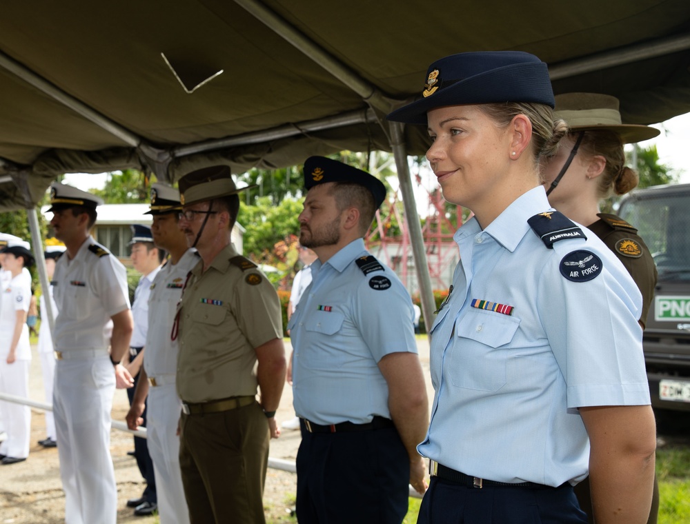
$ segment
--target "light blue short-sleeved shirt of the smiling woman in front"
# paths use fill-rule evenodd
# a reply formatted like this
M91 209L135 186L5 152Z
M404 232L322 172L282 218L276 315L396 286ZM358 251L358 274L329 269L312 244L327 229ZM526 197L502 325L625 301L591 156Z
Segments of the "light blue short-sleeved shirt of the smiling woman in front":
M577 483L587 474L589 439L576 408L649 404L638 287L586 228L586 240L546 248L527 220L549 209L540 186L485 230L471 219L454 236L460 263L432 326L435 396L417 449L471 476ZM589 281L560 272L577 250L601 260ZM473 308L473 299L514 309Z

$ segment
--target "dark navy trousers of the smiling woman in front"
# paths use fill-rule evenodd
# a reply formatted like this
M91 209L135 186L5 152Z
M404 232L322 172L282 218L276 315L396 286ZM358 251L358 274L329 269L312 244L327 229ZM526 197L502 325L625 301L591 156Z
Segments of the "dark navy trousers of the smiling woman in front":
M431 477L417 524L586 524L573 487L465 487Z

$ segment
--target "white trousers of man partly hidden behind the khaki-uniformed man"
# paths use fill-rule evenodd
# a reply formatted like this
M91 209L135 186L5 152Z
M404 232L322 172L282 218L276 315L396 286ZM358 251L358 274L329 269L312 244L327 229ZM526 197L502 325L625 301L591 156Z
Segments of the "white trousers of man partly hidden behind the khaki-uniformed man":
M176 434L181 409L174 383L148 388L147 444L156 476L161 524L189 524L179 470L179 436Z

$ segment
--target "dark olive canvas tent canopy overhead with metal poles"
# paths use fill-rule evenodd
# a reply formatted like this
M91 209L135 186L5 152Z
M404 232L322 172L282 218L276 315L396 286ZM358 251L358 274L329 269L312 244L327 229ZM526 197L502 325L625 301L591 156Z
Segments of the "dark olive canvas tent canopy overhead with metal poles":
M420 94L431 61L471 50L532 52L555 92L613 94L628 123L690 111L687 0L12 0L0 210L34 205L64 172L174 181L390 151L386 112ZM406 126L409 154L425 135Z

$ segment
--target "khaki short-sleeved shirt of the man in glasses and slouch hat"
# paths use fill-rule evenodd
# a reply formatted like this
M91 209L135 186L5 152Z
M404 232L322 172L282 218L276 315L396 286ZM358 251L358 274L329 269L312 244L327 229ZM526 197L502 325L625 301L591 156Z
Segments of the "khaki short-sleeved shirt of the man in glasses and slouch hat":
M254 348L283 336L277 292L232 245L202 268L190 272L177 307L177 393L190 403L255 395Z

